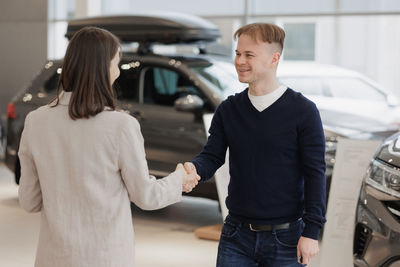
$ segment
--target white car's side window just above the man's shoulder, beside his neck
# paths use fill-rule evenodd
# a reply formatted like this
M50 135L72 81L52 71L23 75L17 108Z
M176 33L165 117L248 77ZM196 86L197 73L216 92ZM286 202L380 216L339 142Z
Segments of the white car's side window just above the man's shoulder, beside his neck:
M304 95L324 95L322 81L317 77L279 77L279 81Z

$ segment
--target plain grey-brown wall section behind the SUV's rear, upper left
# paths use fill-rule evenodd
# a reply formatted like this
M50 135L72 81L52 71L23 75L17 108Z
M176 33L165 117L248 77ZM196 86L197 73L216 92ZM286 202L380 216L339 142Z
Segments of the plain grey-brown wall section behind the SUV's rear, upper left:
M0 114L46 61L47 1L0 3Z

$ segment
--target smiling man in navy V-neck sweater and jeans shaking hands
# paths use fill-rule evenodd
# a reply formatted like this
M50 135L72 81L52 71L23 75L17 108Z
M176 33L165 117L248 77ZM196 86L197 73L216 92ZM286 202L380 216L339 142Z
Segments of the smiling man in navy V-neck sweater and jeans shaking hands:
M243 92L217 108L203 151L188 172L211 178L229 147L229 215L217 266L301 266L318 252L325 223L325 138L314 103L279 85L285 32L254 23L238 38ZM301 263L301 264L300 264Z

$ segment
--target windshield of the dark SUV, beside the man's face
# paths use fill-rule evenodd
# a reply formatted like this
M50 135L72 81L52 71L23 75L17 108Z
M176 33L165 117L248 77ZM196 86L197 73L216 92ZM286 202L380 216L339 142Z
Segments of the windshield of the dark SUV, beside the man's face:
M221 92L223 98L241 92L247 87L239 82L235 67L228 62L213 62L208 66L194 66L191 70ZM203 80L204 80L203 79Z

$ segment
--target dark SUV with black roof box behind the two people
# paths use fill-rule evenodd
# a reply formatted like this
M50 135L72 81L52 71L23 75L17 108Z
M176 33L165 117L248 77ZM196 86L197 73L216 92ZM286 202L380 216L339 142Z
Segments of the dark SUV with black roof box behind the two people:
M197 17L182 15L124 16L76 20L66 36L86 25L112 31L126 43L138 42L135 52L123 51L121 74L114 84L118 107L141 125L150 173L165 176L179 162L191 160L206 142L202 115L213 113L232 90L241 91L231 62L205 54L205 44L220 37L219 30ZM152 45L191 44L200 53L161 55ZM125 49L125 48L123 48ZM17 156L28 112L56 96L62 60L49 61L32 83L8 105L6 165L19 183ZM213 179L191 193L218 199Z

